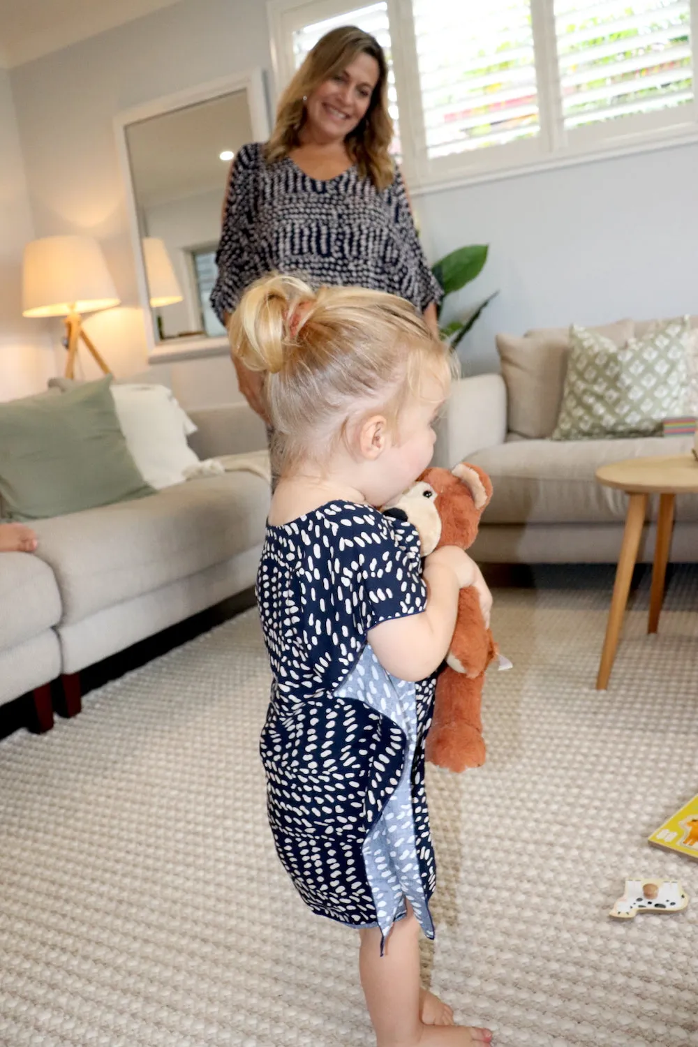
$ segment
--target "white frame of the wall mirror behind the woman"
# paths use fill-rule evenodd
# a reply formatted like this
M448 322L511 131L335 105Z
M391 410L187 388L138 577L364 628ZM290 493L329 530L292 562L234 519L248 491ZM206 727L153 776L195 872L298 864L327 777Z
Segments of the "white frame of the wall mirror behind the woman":
M127 210L129 213L129 228L136 270L138 298L143 311L149 363L170 363L176 360L196 359L206 356L227 356L229 349L228 339L223 335L215 338L196 336L188 338L167 338L166 342L156 340L155 321L148 292L148 280L145 277L145 263L140 244L141 232L138 226L138 209L129 157L128 128L131 124L138 124L153 116L161 116L176 109L185 109L187 106L209 102L224 94L232 94L235 91L242 90L247 92L254 140L266 141L271 134L271 126L264 88L264 73L261 68L249 69L229 76L221 76L199 87L187 88L184 91L178 91L176 94L167 94L164 97L156 98L144 105L126 109L117 113L114 117L116 147L123 180ZM221 194L221 204L223 204L223 194Z

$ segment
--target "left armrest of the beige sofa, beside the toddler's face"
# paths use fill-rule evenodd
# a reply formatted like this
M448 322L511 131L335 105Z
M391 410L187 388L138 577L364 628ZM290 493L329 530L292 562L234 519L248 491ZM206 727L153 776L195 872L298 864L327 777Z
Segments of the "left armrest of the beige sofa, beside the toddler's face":
M433 465L451 469L475 451L506 439L506 386L501 375L475 375L453 383L436 433Z

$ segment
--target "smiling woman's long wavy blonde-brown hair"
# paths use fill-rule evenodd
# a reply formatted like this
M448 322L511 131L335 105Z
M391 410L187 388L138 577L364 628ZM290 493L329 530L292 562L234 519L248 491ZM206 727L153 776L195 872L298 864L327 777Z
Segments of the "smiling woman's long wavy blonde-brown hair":
M354 25L325 34L306 57L282 95L276 122L265 148L267 163L275 163L300 146L306 121L303 95L310 95L325 80L342 72L359 54L369 54L378 63L379 76L361 122L344 139L359 175L384 190L395 179L395 164L388 153L392 141L392 119L388 112L388 67L378 41Z

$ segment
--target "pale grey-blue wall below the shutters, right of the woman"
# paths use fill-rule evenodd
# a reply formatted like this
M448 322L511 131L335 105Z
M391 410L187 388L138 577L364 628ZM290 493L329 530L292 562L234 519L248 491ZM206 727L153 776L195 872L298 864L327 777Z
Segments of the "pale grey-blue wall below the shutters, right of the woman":
M482 273L461 292L475 302L499 290L466 339L469 371L496 366L497 331L698 308L698 144L430 193L416 203L430 250L491 245Z

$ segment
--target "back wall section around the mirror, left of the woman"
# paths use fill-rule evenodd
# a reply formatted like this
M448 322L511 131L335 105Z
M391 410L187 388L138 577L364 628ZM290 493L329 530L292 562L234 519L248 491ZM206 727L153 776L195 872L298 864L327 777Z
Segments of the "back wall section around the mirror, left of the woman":
M87 232L102 242L122 308L85 327L119 377L147 363L114 115L255 66L270 67L263 3L182 0L12 70L36 235ZM223 357L166 370L189 406L238 395ZM92 361L85 373L95 374Z

